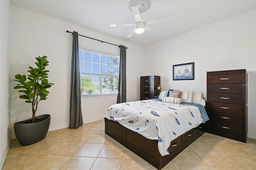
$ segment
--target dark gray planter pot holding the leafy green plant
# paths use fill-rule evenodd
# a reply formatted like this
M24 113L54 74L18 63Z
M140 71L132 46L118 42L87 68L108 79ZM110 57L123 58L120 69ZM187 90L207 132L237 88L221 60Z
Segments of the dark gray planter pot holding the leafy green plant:
M21 145L27 146L42 140L50 127L51 116L40 115L36 118L46 118L36 123L25 123L31 119L14 123L14 132Z

